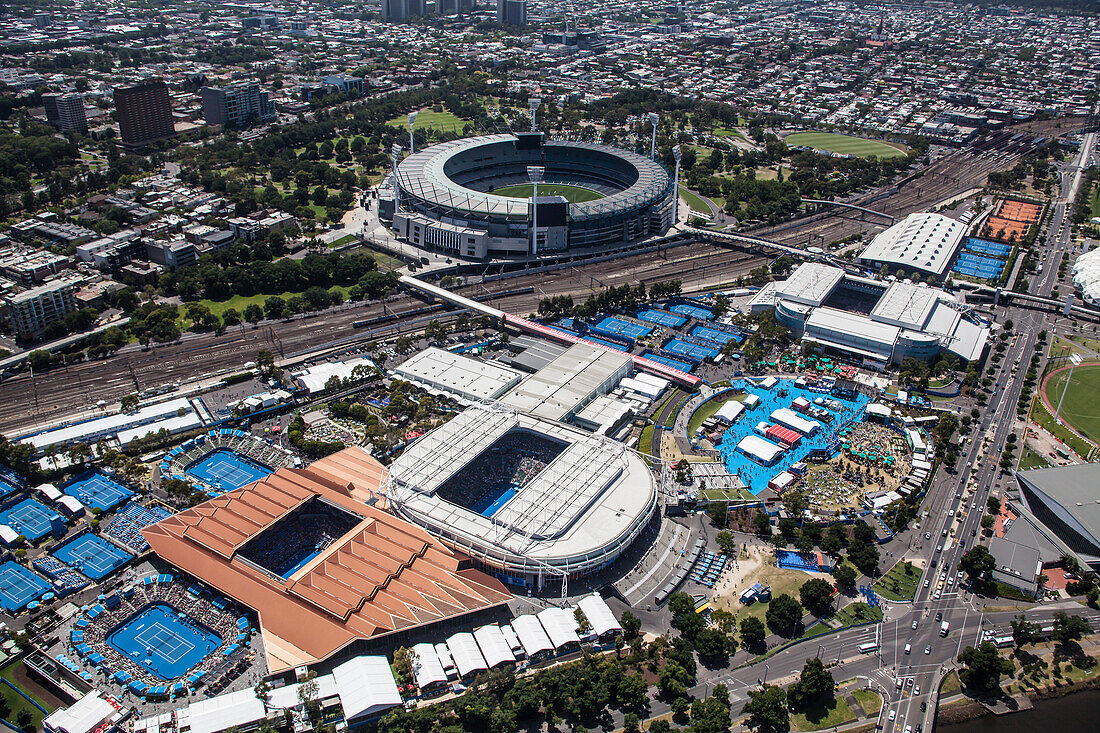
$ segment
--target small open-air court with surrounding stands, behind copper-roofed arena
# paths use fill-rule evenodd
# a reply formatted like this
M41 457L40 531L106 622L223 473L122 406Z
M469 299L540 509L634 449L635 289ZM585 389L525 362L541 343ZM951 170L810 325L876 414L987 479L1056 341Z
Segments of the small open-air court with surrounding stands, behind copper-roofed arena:
M161 461L161 479L187 481L217 496L294 463L294 455L278 446L244 430L220 428L168 451Z

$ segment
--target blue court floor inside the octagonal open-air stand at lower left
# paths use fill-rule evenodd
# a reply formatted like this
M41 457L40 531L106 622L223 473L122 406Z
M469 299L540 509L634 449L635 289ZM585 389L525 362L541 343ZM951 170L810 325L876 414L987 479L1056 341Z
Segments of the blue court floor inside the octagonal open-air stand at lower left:
M163 680L184 676L221 637L165 603L145 606L107 636L107 643Z

